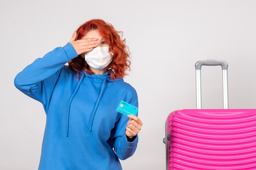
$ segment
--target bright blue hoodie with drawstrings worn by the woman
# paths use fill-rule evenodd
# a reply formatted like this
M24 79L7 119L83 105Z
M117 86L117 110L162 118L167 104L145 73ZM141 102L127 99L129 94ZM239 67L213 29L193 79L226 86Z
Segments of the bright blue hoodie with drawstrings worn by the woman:
M68 43L36 59L20 72L15 86L41 102L47 116L39 170L121 170L136 150L129 142L129 118L116 111L121 100L138 107L135 89L122 78L70 70L77 57Z

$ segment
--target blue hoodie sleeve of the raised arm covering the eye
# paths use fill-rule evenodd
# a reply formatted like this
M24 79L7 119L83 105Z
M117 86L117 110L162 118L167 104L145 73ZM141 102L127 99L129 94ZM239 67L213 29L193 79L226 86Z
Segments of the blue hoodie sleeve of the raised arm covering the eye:
M14 85L27 96L45 104L63 66L74 57L77 53L70 43L55 48L18 73Z

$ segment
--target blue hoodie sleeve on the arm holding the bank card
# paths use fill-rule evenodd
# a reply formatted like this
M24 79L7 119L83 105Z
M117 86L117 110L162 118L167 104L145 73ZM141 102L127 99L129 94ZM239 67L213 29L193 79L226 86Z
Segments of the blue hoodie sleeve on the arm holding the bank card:
M138 107L137 93L135 89L133 90L133 97L130 100L126 101L128 101L128 103L130 103L131 105ZM138 113L136 116L138 116ZM128 141L128 138L125 134L128 120L129 118L127 116L121 116L120 120L117 122L117 130L114 136L114 150L117 157L121 160L131 157L135 153L138 143L138 135L136 135L135 139L132 142Z

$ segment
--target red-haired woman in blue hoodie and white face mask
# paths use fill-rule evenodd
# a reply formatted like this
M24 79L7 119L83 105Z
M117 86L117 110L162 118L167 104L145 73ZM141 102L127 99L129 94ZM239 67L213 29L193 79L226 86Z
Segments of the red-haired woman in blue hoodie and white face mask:
M119 159L135 152L142 122L116 111L121 100L138 107L123 80L130 61L120 33L90 20L16 76L15 86L47 115L39 170L121 170Z

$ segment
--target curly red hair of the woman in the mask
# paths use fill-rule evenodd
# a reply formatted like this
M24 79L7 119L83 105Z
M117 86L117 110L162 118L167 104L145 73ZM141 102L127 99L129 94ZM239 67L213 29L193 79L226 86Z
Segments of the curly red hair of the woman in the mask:
M108 66L110 68L111 79L115 80L124 77L126 70L130 71L130 53L128 46L126 46L126 39L121 39L122 31L116 31L112 24L106 23L100 19L93 19L85 22L77 29L77 39L81 39L91 30L98 29L103 39L110 45L110 52L113 53L113 59ZM93 74L88 70L88 64L85 59L79 55L78 57L68 62L70 70L76 71L80 74L85 70L88 74Z

